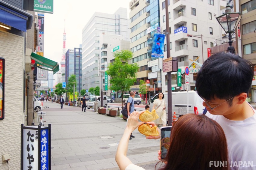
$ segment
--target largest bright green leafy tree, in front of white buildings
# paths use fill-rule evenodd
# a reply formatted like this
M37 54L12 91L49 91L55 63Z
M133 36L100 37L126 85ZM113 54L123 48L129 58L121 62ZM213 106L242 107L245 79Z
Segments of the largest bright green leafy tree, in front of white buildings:
M110 63L106 71L111 76L109 80L111 84L110 89L122 91L122 100L124 91L129 91L130 87L136 82L136 73L139 66L136 63L128 64L128 61L132 58L133 53L130 50L117 51L114 53L114 62Z

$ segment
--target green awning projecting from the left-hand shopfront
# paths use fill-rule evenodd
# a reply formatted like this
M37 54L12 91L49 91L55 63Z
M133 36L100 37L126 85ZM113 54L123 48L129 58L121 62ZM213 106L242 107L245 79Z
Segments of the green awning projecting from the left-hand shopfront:
M38 54L32 52L30 55L30 58L36 61L36 64L34 65L35 67L38 67L43 70L53 71L53 74L57 73L60 70L59 63L52 61L48 58L42 57L41 55L38 55ZM49 69L42 68L41 66L38 66L37 64L47 67Z

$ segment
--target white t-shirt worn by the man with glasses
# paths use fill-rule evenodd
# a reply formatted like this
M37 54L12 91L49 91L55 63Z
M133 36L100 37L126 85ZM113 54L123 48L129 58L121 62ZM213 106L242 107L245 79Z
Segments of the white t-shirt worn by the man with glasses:
M232 121L221 115L206 113L206 116L217 121L225 132L230 160L229 166L232 170L256 170L255 113L254 110L254 115L243 121ZM215 163L215 165L220 165L220 163Z

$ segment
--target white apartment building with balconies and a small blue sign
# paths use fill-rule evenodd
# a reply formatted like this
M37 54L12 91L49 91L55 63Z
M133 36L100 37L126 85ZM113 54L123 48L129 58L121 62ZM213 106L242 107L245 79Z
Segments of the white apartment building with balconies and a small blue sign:
M189 90L195 90L195 78L201 64L208 58L208 48L214 46L216 39L221 38L221 27L215 15L226 7L226 1L214 0L173 0L168 1L169 28L166 29L165 1L160 0L161 32L168 32L170 36L170 56L178 59L178 67L184 72L186 66L196 61L190 67ZM188 35L189 34L189 35ZM216 44L215 44L216 45ZM164 58L167 58L166 39L164 44ZM160 63L160 62L159 62ZM167 73L161 71L162 91L167 89ZM172 86L177 88L177 74L172 73ZM186 89L186 86L185 86Z

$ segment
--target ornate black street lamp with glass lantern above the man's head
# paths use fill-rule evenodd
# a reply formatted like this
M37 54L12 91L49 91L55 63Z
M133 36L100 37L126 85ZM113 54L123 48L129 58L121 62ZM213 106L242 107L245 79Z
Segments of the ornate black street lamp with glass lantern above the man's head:
M223 28L223 30L228 34L229 36L229 47L228 51L231 53L235 53L235 49L232 46L232 35L234 34L234 30L236 29L238 23L241 19L241 13L236 12L232 13L232 10L230 8L230 5L226 5L225 13L221 16L216 17L217 21L219 22L220 26ZM232 34L233 33L233 34Z

